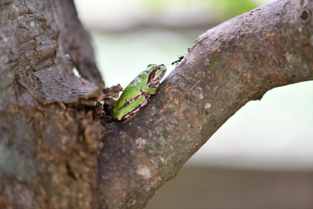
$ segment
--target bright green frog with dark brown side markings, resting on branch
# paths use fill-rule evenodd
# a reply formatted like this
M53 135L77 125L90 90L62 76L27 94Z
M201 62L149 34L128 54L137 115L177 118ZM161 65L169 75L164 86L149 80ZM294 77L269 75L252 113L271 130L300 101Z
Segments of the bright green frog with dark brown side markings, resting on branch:
M155 94L159 82L165 75L166 66L148 65L122 92L113 109L113 115L118 119L126 119L144 107L152 94Z

